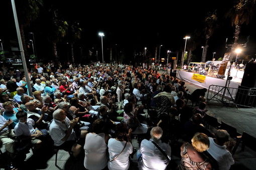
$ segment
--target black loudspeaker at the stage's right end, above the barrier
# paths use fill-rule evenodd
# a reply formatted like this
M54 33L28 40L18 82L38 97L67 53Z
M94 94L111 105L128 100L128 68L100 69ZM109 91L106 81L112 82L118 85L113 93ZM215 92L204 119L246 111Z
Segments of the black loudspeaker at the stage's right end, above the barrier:
M241 86L245 87L256 87L256 63L247 63L243 77L242 77L242 82Z

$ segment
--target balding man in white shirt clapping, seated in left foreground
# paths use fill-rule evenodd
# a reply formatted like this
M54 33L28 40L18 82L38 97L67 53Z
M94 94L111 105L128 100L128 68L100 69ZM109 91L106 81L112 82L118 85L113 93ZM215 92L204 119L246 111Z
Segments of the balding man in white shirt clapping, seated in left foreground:
M53 121L50 125L50 135L54 141L54 145L66 151L72 151L73 156L77 157L82 150L81 140L76 140L74 126L79 118L69 120L66 112L62 109L55 110L53 113ZM80 138L85 138L86 130L82 130Z

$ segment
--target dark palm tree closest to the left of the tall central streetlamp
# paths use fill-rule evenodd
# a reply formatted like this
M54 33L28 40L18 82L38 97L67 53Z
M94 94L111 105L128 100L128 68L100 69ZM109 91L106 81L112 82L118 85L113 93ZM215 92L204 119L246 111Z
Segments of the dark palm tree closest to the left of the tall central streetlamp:
M71 48L71 58L72 58L73 63L75 61L73 45L77 39L81 39L81 32L82 32L82 29L79 27L79 23L77 23L77 22L70 24L68 27L67 38L68 38L68 42L71 46L70 47Z

